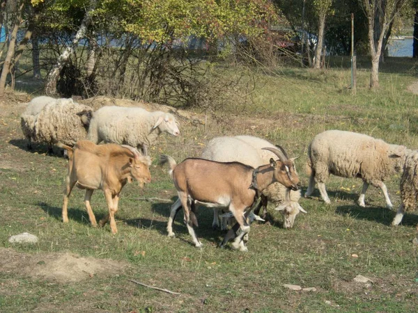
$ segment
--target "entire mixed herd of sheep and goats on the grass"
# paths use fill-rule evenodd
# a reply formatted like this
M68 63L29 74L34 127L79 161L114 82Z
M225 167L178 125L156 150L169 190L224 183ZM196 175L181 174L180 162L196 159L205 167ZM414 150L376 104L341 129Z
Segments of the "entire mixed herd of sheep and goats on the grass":
M178 136L178 122L170 113L148 112L141 108L104 106L93 112L89 106L72 99L37 97L29 102L21 116L22 131L31 148L31 141L47 143L49 150L57 145L67 151L66 178L62 217L68 222L68 197L74 186L86 189L84 203L91 225L97 226L91 209L93 191L101 189L109 214L99 221L103 226L110 220L111 232L117 232L114 214L123 186L132 179L139 186L150 182L150 157L147 147L157 136L166 132ZM85 139L88 140L85 140ZM99 145L99 143L104 143ZM139 152L139 150L141 152ZM306 211L298 203L300 180L294 160L280 146L253 136L224 136L213 138L201 158L188 158L181 163L162 155L160 163L169 164L169 174L178 193L171 206L167 225L174 236L173 219L183 207L184 221L194 245L202 243L196 237L196 205L214 208L213 227L226 229L221 246L233 239L232 247L246 251L245 241L253 220L263 208L266 216L268 201L276 205L284 217L284 227L293 227L295 216ZM418 151L403 145L390 145L380 139L349 131L330 130L318 134L309 144L309 186L305 197L311 195L315 184L323 200L329 204L325 181L330 174L340 177L359 177L364 184L358 204L364 207L364 195L369 184L382 189L387 207L392 202L384 184L394 172L403 171L401 206L392 225L401 223L405 211L415 209L418 198ZM227 213L219 216L219 209ZM236 223L235 223L236 222Z

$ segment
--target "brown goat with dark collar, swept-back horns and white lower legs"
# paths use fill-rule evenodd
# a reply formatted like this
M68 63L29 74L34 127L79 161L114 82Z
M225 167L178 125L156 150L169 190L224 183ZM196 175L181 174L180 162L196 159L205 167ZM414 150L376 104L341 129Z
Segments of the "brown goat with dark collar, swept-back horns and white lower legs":
M228 207L241 230L232 246L247 251L242 237L249 232L246 217L249 214L248 209L254 203L256 190L263 191L274 182L293 190L300 188L293 162L280 150L269 150L277 154L279 159L270 159L270 164L256 169L238 162L222 163L204 159L185 159L177 164L173 158L162 155L160 163L169 163L170 175L183 206L187 230L196 247L202 246L193 229L193 224L197 225L194 215L196 203L206 207ZM225 243L224 240L222 246Z

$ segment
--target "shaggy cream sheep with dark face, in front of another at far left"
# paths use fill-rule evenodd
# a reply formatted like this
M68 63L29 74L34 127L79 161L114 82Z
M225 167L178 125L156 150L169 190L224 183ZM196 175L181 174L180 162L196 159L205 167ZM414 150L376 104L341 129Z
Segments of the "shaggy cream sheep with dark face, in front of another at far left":
M74 145L86 137L92 112L90 106L77 104L72 99L54 99L35 115L32 138L47 143L48 152L52 152L52 145L56 143Z

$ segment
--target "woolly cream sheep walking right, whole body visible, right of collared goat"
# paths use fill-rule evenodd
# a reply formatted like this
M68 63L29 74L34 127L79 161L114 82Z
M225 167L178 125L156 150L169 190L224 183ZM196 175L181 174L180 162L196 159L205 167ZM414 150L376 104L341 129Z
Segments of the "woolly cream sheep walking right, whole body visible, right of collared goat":
M387 207L392 208L386 185L383 183L395 171L400 172L408 149L390 145L381 139L351 131L329 130L315 136L308 147L308 170L311 171L305 197L312 194L315 183L325 203L330 204L325 181L330 174L339 177L358 177L363 188L358 204L364 207L364 194L369 184L380 187Z

